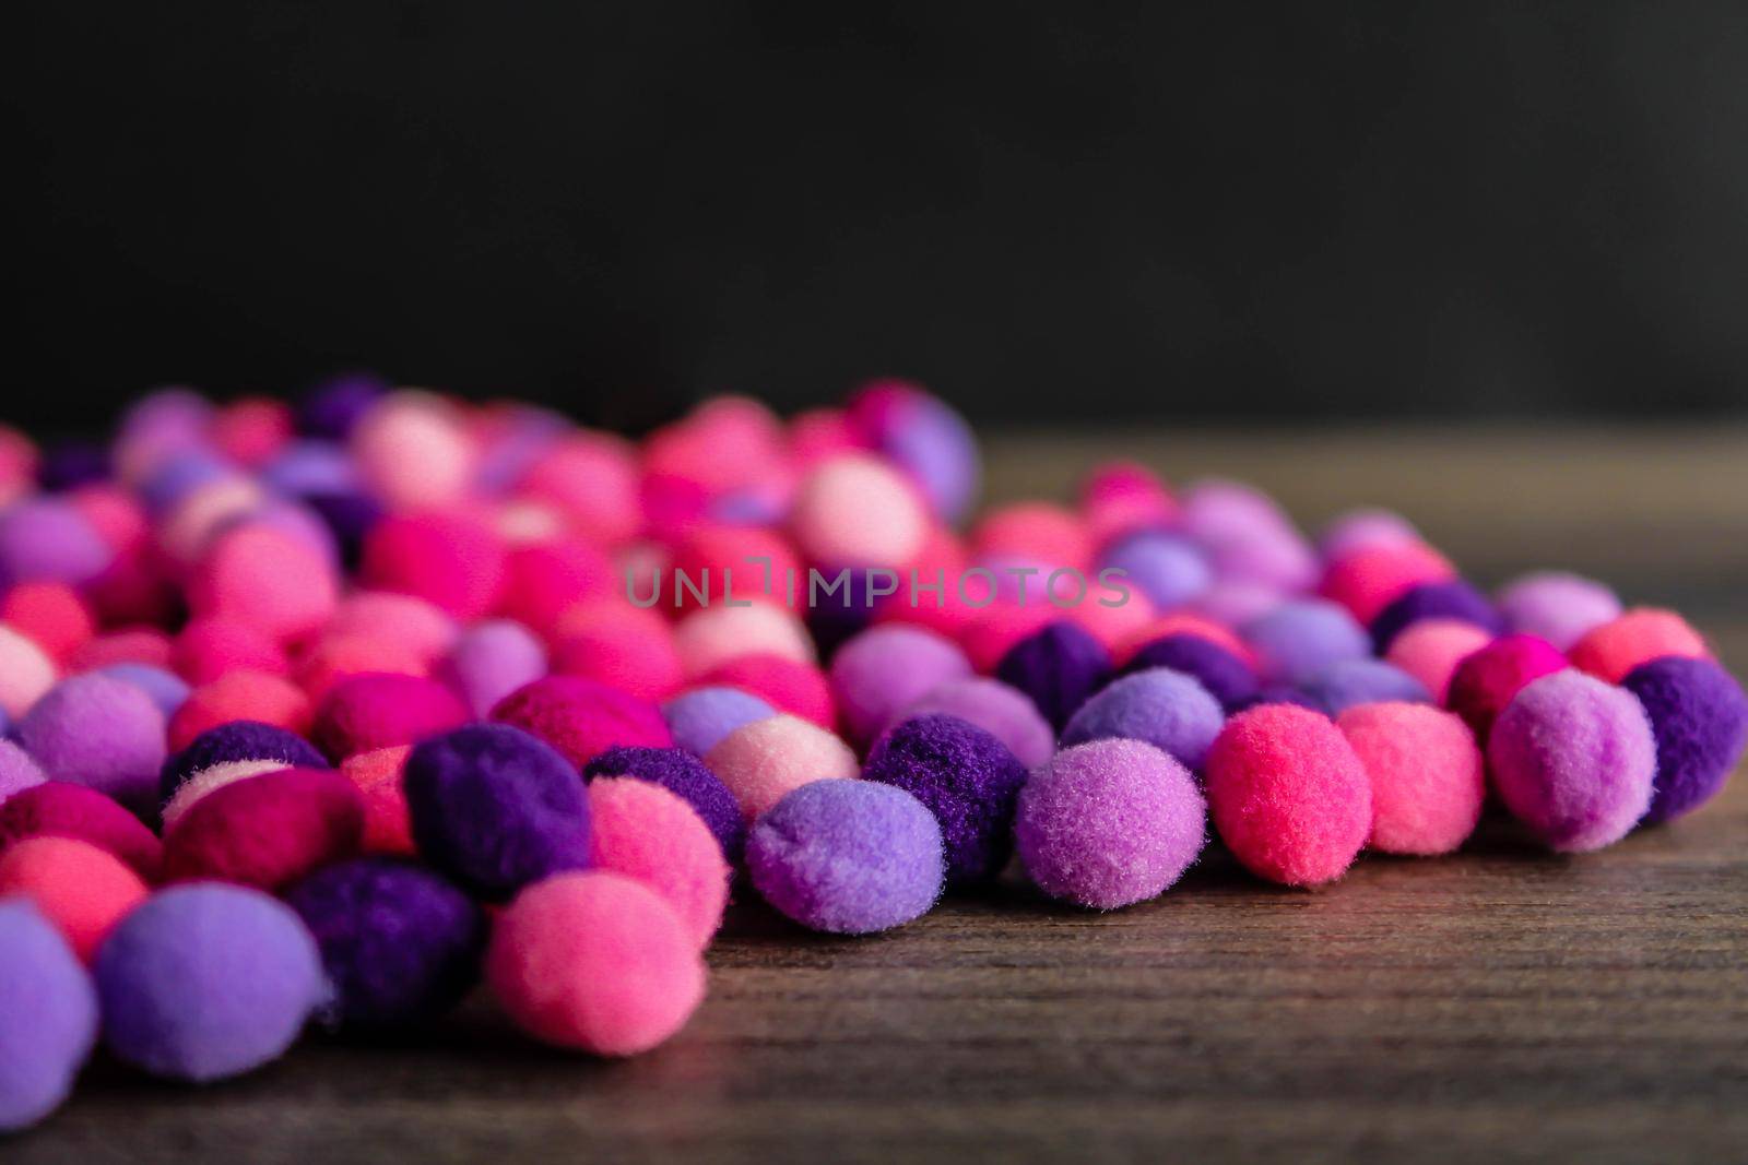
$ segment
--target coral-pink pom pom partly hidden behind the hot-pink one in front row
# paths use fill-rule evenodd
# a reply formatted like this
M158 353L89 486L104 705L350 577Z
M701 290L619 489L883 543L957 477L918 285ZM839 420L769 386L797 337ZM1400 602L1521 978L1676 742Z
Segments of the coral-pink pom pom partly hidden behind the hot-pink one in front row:
M1335 727L1372 782L1372 849L1449 854L1475 831L1488 774L1456 714L1425 704L1362 704Z

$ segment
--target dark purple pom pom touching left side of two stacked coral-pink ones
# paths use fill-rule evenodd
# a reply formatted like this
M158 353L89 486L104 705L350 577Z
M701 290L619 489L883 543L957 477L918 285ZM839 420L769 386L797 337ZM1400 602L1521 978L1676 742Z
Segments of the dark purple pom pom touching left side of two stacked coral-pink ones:
M472 725L425 741L404 786L420 854L486 900L589 865L582 781L521 728Z

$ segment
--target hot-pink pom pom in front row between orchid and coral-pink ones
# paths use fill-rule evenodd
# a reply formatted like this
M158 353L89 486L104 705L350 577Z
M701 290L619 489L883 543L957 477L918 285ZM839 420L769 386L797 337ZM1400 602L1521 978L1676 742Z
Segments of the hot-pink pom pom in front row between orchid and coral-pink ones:
M1372 782L1348 737L1318 713L1239 713L1208 753L1208 807L1227 849L1285 886L1339 879L1372 833Z

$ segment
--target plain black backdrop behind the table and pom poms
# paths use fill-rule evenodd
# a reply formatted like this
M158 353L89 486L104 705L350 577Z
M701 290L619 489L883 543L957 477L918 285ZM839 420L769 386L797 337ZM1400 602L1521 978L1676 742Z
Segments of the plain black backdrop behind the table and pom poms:
M9 9L7 419L404 383L645 424L1748 403L1748 7Z

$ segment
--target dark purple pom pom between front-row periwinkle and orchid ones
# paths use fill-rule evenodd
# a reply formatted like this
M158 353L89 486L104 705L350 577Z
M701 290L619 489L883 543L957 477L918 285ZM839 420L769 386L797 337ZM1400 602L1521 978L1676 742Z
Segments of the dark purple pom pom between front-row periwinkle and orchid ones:
M991 879L1007 865L1026 767L977 725L958 716L905 720L874 744L862 776L898 786L935 814L949 884Z

